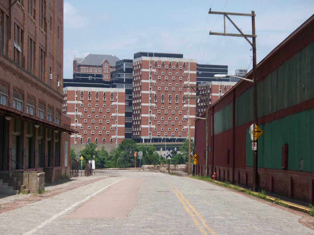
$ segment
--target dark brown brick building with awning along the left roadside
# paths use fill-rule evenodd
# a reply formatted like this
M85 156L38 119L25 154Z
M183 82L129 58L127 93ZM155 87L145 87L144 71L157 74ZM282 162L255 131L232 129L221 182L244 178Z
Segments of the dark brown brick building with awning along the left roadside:
M16 180L10 178L12 172L23 178L23 168L44 171L34 174L45 176L46 182L69 175L68 134L74 129L62 113L62 58L62 0L0 2L0 170L8 173L4 180ZM37 180L37 191L45 181L38 185Z

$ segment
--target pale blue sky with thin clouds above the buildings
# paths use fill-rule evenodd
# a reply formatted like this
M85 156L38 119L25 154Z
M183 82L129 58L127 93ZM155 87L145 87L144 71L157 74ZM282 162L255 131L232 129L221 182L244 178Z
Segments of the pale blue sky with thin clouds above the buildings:
M86 4L88 3L88 4ZM257 63L314 13L313 0L64 0L63 78L73 77L74 57L88 54L133 59L139 51L180 53L199 64L252 69L251 45L223 32L218 12L255 11ZM252 34L252 18L230 16ZM237 29L226 18L226 32ZM252 39L251 39L252 41Z

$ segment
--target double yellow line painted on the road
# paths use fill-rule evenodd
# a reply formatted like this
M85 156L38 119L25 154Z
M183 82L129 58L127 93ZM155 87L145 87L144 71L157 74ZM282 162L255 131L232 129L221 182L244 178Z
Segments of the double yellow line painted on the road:
M201 231L204 235L208 235L208 232L212 235L216 235L216 233L206 224L204 218L198 213L198 211L187 201L187 199L182 195L182 193L176 188L174 185L170 185L172 191L175 193L184 209L187 213L192 217L192 221L198 227L199 231ZM208 231L208 232L207 232Z

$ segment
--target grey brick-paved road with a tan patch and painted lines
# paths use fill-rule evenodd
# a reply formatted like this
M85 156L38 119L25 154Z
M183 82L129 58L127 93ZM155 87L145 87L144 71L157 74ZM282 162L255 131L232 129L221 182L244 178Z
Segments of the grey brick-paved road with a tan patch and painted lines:
M102 177L108 174L0 213L0 234L314 234L304 213L207 182L126 170Z

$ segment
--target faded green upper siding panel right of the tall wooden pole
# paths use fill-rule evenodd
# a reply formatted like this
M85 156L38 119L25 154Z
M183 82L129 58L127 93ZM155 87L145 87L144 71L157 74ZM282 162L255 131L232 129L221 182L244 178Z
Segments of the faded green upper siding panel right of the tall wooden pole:
M272 71L263 80L260 80L257 86L258 117L266 116L313 98L313 64L314 43L311 43L285 61L278 69ZM241 96L239 98L240 100L237 102L243 102L243 98ZM239 108L243 108L245 105L252 106L250 102L245 102ZM239 112L240 115L244 115L241 110L236 110L236 114ZM241 116L236 117L236 124L243 124L242 119Z

